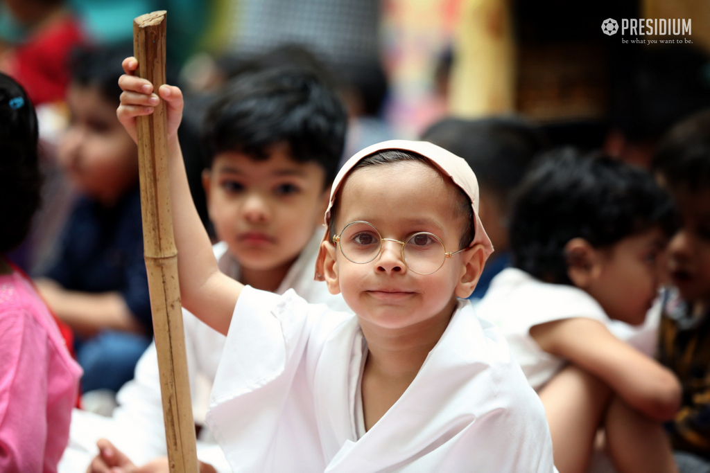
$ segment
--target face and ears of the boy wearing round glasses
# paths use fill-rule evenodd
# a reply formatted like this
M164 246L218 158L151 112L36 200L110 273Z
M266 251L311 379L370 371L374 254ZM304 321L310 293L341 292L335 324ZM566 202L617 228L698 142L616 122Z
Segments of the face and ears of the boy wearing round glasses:
M342 232L353 221L367 221L381 238L405 241L413 233L430 232L447 251L457 251L465 217L454 211L452 185L420 162L358 169L347 178L339 196L336 231ZM400 243L382 240L381 252L365 264L347 260L332 243L323 245L329 289L342 292L363 326L405 328L448 321L456 296L471 294L483 266L479 247L445 260L437 272L420 275L405 265ZM469 260L474 263L467 265ZM470 281L462 284L461 279Z

